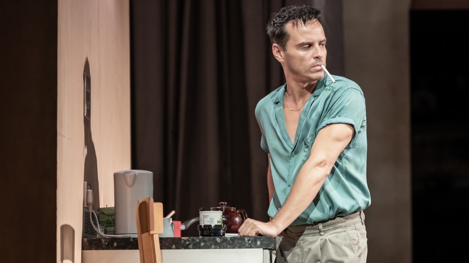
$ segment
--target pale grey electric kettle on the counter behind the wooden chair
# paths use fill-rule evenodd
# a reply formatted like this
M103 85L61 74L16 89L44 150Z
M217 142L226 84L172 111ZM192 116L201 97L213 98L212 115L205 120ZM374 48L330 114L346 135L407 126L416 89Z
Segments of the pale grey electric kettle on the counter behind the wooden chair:
M122 170L114 173L115 233L137 234L135 207L140 199L153 197L153 173Z

